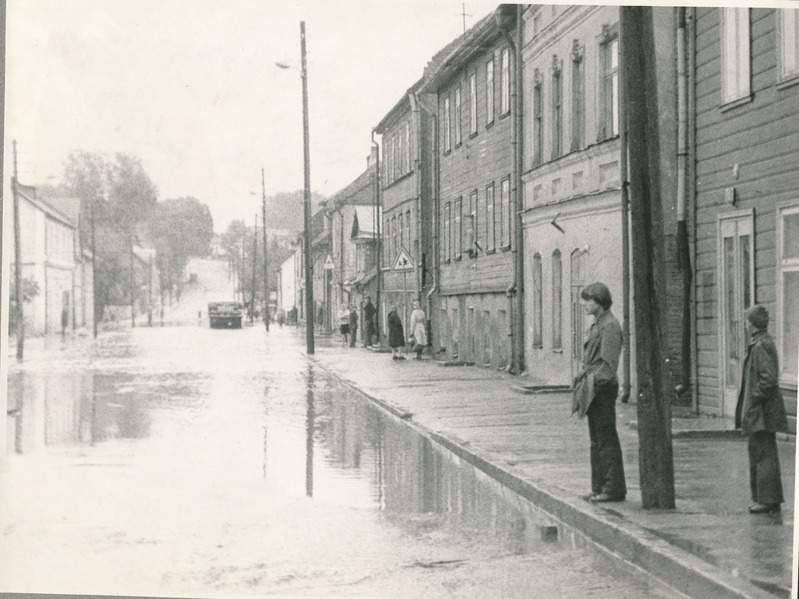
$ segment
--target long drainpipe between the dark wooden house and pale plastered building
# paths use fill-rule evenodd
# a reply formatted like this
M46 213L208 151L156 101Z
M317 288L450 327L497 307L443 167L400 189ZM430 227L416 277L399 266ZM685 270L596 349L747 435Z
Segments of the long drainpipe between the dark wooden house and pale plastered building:
M522 211L522 5L516 5L516 40L510 36L507 30L507 21L500 15L497 9L495 19L502 35L510 46L513 53L514 75L510 81L511 103L513 105L513 115L511 122L511 146L513 148L513 189L511 190L511 209L513 218L513 280L506 290L508 297L508 307L510 318L508 333L511 338L511 364L509 371L514 374L521 374L524 370L524 252L522 243L524 242L521 227Z

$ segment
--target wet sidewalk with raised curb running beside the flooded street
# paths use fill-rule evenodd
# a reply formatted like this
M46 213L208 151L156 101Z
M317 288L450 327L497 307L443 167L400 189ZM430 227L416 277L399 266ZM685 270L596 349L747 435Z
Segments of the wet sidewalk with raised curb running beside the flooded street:
M318 339L315 361L461 459L519 493L616 557L695 598L789 597L795 441L778 441L786 503L781 515L747 512L743 437L717 418L675 418L677 509L643 510L634 404L617 404L627 501L595 505L587 423L570 416L568 393L525 395L533 384L478 367L442 368L429 357L387 354ZM559 528L562 528L559 526ZM559 532L564 535L565 530Z

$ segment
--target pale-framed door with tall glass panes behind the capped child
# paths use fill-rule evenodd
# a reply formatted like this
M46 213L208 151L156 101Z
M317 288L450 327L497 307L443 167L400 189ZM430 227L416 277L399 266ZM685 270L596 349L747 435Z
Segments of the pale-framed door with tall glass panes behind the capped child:
M744 311L754 298L754 245L752 213L738 213L719 221L721 322L721 413L735 415L741 368L746 354Z

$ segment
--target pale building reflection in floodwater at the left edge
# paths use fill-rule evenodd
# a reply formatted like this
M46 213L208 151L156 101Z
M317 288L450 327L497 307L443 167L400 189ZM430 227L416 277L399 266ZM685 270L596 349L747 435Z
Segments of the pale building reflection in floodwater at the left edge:
M117 392L119 383L119 377L86 371L9 374L7 451L146 436L144 398Z

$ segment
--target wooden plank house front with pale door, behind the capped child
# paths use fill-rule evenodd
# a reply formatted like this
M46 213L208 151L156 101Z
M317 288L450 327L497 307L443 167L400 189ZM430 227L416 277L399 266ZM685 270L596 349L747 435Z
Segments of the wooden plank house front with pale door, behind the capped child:
M744 310L764 304L796 426L799 362L799 11L696 8L696 387L733 416Z

